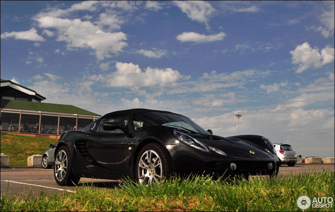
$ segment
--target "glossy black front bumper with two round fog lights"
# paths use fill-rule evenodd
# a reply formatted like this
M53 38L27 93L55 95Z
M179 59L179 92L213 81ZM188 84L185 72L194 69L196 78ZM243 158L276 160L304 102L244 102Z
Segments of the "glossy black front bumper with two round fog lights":
M278 159L271 155L250 155L246 157L223 156L210 150L209 153L195 150L183 143L166 145L171 154L174 171L179 175L210 174L214 177L234 177L249 175L269 175L276 177L279 171ZM232 170L230 164L235 162L237 168ZM272 169L268 168L272 163Z

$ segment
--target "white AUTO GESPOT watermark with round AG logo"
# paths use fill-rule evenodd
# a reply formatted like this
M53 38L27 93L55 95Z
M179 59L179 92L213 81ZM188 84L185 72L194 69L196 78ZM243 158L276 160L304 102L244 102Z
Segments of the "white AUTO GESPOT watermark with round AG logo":
M314 197L313 200L307 195L301 195L296 200L296 205L301 210L312 208L332 208L334 199L332 197Z

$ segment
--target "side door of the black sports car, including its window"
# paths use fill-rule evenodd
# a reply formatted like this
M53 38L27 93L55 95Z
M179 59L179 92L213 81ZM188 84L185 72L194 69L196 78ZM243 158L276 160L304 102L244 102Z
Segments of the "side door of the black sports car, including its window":
M128 135L122 130L107 131L103 129L105 122L127 124L127 117L109 117L100 121L96 132L86 135L86 144L89 155L100 166L117 170L129 170Z

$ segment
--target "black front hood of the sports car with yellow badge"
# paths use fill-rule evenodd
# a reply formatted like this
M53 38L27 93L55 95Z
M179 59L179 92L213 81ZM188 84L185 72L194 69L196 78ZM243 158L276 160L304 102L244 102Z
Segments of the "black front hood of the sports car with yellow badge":
M263 145L261 143L263 142L261 140L257 143L207 134L191 134L190 136L197 139L205 146L217 148L225 152L227 155L248 156L252 158L264 157L265 155L271 155L273 157L273 154L267 151L269 149L266 148L265 144ZM259 137L261 136L248 135L248 138L251 138L251 140L257 140Z

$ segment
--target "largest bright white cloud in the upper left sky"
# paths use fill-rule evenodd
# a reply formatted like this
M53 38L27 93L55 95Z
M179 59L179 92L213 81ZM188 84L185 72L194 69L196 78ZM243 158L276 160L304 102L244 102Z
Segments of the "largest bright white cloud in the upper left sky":
M127 46L123 40L127 40L122 32L103 32L97 25L90 21L80 19L62 19L54 17L35 18L42 28L56 28L58 30L57 41L65 41L67 49L91 48L98 59L111 57L110 52L116 54Z

